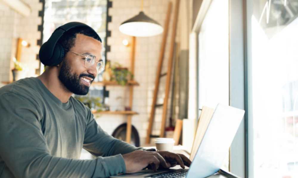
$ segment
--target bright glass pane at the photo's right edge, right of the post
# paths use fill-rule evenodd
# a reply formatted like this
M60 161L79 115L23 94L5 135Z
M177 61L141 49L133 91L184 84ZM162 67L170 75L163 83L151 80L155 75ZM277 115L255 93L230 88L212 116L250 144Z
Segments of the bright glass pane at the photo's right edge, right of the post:
M298 0L252 5L253 176L298 177Z

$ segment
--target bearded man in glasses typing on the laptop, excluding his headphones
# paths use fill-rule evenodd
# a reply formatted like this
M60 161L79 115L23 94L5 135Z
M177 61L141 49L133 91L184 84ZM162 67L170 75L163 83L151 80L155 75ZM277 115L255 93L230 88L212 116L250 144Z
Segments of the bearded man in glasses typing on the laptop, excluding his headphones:
M190 166L184 155L150 152L113 138L72 97L86 95L103 67L103 46L93 29L72 28L58 44L64 51L58 65L0 89L1 178L109 177L147 166ZM82 148L97 158L79 160Z

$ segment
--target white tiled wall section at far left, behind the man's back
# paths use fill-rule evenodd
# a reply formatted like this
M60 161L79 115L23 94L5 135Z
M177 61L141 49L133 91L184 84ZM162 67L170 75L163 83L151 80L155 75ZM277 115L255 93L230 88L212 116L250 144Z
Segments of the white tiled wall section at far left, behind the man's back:
M35 69L38 68L36 55L39 46L37 40L41 34L38 25L41 24L41 17L38 11L42 9L39 0L24 0L31 8L28 17L20 15L0 2L0 82L12 81L13 62L15 56L17 39L22 38L30 43L30 47L23 47L21 53L21 63L27 66L26 77L35 76Z

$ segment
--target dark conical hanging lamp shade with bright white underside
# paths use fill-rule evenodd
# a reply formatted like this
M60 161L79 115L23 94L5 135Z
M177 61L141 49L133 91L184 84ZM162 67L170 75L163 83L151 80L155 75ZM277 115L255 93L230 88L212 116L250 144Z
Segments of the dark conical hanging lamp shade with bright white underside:
M144 14L140 12L138 15L121 23L119 30L130 36L154 36L163 32L162 26Z

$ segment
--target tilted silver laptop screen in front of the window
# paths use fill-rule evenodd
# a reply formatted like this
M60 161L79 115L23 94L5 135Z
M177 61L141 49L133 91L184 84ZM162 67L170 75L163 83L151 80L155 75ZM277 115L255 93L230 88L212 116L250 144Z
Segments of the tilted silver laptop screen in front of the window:
M187 177L207 177L220 169L243 115L242 109L217 105Z

